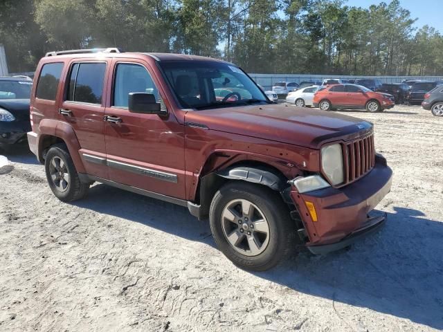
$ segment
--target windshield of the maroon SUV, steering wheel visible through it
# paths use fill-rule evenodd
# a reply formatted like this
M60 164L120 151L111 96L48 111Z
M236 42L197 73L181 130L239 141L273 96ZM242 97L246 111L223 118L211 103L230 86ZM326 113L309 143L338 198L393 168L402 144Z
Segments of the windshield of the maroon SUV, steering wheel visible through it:
M241 69L221 62L159 62L180 104L205 109L269 102Z

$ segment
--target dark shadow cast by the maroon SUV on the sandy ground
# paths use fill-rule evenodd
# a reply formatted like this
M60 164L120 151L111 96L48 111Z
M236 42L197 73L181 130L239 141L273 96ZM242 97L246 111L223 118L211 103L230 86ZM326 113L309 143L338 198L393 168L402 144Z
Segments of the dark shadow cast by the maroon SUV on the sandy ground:
M75 203L215 246L207 222L181 206L105 185ZM324 256L303 250L258 277L295 291L443 329L443 223L396 207L377 234Z

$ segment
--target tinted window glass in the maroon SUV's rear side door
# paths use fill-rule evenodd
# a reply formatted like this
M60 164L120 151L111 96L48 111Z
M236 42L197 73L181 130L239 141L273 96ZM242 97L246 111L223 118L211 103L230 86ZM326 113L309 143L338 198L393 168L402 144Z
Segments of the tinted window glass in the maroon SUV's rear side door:
M80 63L71 68L66 100L101 104L106 64Z

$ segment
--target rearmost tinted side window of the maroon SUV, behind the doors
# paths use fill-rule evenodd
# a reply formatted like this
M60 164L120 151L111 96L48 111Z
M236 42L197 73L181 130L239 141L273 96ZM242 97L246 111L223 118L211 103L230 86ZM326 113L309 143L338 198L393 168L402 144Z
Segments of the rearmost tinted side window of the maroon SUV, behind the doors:
M37 98L55 100L63 66L62 62L55 62L53 64L45 64L42 67L37 82L37 93L35 95Z

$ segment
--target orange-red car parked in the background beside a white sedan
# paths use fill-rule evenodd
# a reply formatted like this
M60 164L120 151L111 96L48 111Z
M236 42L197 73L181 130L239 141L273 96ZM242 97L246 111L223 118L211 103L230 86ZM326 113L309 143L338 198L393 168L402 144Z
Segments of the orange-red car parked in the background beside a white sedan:
M357 84L328 85L314 94L314 107L323 111L332 109L366 109L370 112L394 107L394 96L374 92Z

